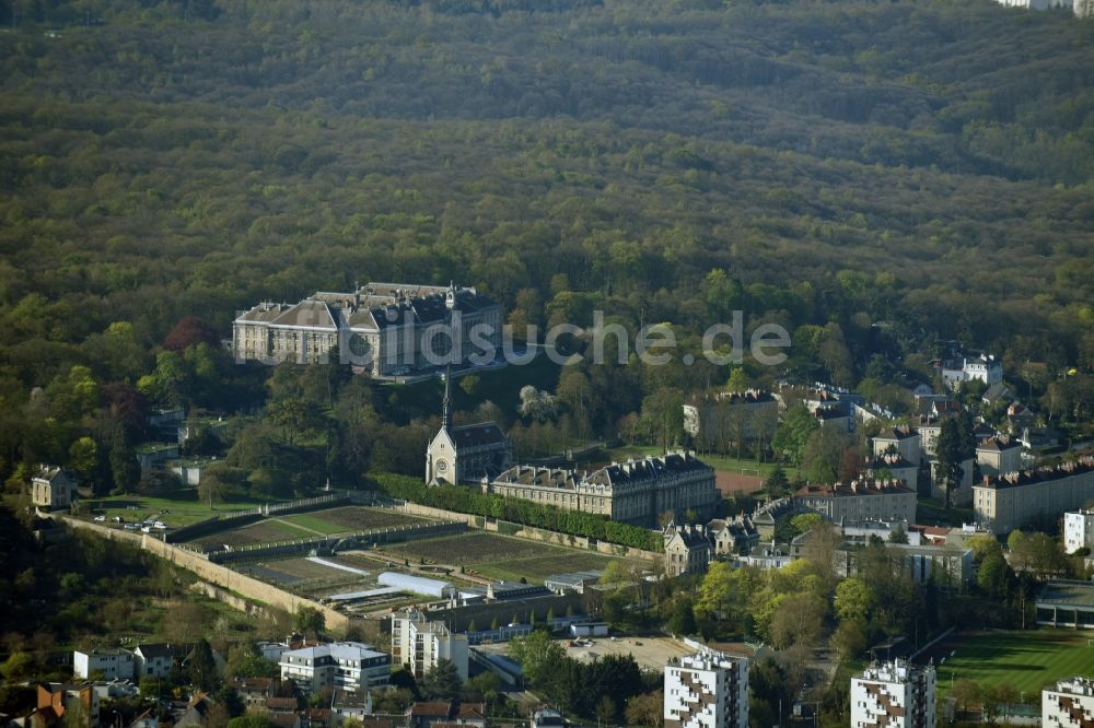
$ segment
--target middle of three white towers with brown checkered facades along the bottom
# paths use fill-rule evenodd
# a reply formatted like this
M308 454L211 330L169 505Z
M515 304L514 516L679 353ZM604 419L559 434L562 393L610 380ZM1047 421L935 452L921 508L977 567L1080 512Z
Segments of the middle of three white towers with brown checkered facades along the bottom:
M894 660L851 679L851 728L934 728L934 666Z

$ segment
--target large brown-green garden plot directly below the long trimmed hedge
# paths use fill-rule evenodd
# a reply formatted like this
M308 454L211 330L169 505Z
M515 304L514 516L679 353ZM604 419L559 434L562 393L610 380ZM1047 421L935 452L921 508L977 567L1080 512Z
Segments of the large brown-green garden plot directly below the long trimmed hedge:
M409 559L426 559L439 564L465 566L491 579L519 582L521 577L542 583L551 574L604 568L612 556L591 551L547 545L494 533L466 533L440 539L412 541L384 549L386 553Z

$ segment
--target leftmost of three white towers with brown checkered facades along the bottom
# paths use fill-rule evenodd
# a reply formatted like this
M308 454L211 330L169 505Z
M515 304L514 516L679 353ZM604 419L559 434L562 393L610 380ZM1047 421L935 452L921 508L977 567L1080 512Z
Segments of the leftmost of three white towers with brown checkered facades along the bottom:
M748 660L703 648L665 667L665 728L747 728Z

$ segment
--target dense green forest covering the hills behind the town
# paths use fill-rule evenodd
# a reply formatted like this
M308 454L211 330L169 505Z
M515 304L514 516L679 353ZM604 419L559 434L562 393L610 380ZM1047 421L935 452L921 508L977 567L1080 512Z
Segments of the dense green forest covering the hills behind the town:
M846 386L942 339L1094 366L1094 23L1069 13L12 0L0 22L3 475L106 468L142 396L261 404L218 351L234 313L357 280L478 285L514 324L666 321L685 348L741 308L793 331L792 374ZM612 402L592 434L728 374L586 371L560 399Z

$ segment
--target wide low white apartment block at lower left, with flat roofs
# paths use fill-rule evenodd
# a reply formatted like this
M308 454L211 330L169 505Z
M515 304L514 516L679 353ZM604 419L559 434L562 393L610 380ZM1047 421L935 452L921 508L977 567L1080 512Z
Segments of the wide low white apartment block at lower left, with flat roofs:
M360 642L287 650L278 665L281 679L292 680L306 694L386 685L392 674L392 657Z

